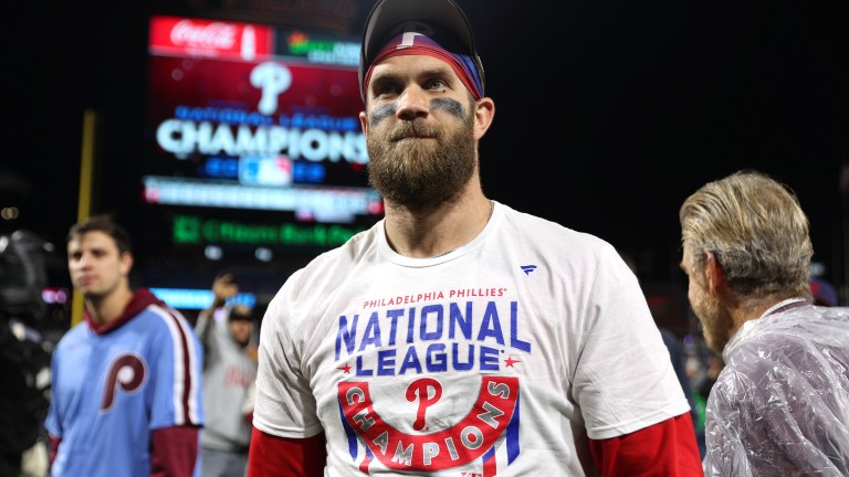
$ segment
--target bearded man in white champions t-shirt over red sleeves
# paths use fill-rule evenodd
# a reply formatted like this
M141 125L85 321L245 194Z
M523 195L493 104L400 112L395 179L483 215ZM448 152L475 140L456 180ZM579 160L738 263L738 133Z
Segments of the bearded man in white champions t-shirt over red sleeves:
M378 1L359 77L386 215L269 304L249 476L701 475L617 250L484 195L495 106L458 4Z

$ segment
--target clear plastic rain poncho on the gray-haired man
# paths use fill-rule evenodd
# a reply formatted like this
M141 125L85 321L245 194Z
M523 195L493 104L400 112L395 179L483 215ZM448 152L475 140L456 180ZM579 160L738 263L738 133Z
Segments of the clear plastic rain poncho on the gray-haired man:
M747 321L723 359L705 476L849 476L849 308L805 304Z

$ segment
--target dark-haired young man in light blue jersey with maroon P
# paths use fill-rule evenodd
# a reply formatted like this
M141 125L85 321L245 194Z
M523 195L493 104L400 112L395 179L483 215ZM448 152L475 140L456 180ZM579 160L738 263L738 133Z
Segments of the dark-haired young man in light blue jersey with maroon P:
M85 314L52 357L51 477L200 477L203 351L191 325L130 289L130 240L108 216L71 227L67 268Z

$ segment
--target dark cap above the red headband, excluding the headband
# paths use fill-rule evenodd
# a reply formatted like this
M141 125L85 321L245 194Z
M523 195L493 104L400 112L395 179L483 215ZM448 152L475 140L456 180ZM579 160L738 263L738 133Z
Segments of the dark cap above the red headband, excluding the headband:
M474 45L472 25L454 0L378 0L371 7L363 29L360 93L366 88L366 72L380 51L390 40L407 31L424 34L451 53L468 56L480 94L484 95L483 64Z

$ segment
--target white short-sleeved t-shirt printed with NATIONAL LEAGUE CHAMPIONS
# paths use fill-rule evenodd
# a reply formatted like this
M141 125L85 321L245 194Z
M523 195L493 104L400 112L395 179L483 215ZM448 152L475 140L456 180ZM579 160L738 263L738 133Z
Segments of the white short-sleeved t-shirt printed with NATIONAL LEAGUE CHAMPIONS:
M253 423L324 430L326 476L583 476L587 436L689 409L617 251L495 203L448 255L398 255L380 221L293 274L262 322Z

